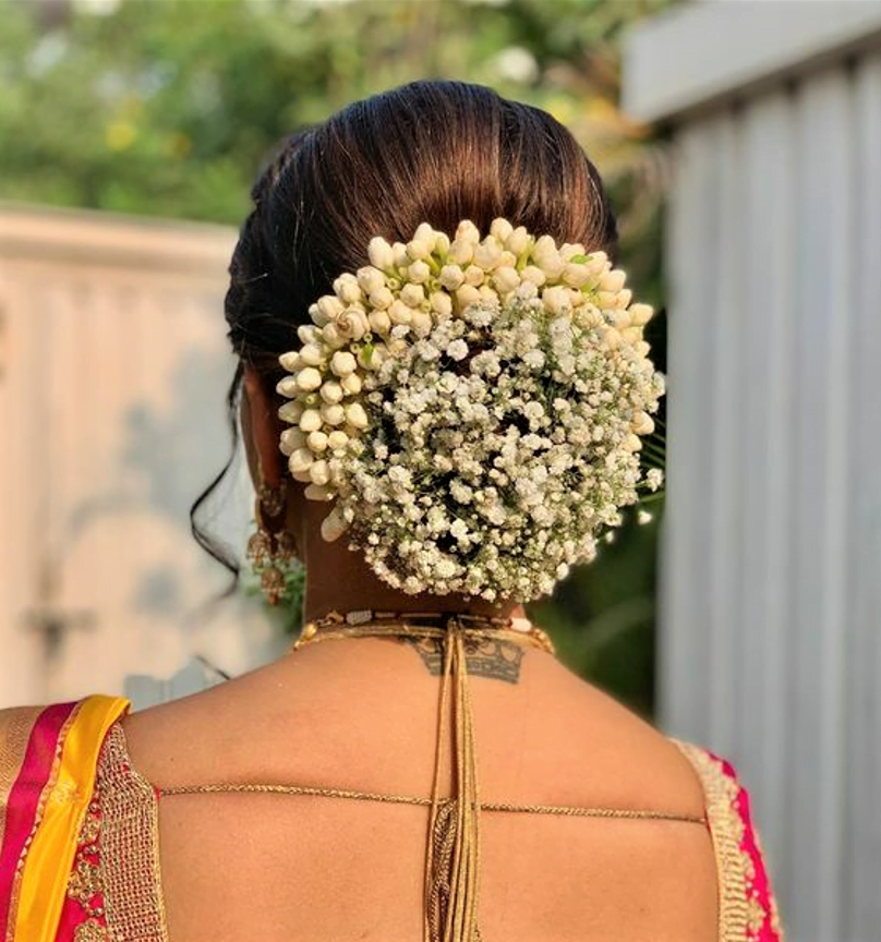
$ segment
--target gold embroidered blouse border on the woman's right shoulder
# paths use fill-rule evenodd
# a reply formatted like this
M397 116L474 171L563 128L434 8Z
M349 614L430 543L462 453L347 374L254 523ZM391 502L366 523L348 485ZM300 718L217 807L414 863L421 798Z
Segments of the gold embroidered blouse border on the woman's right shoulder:
M722 763L698 746L674 740L703 786L719 882L719 942L748 942L750 908L747 872L740 844L745 826L737 813L737 783Z

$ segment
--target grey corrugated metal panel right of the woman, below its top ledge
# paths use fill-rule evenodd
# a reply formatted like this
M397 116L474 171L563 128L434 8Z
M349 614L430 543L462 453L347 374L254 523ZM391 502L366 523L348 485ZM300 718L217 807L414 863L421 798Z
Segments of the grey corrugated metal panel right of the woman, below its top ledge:
M684 124L665 725L729 757L799 942L881 902L881 57Z

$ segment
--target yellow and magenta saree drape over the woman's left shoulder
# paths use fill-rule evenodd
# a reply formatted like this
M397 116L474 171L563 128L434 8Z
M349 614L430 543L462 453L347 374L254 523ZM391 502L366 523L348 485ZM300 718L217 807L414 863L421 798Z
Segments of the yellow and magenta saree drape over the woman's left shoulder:
M0 942L88 942L80 931L84 915L99 928L102 914L88 911L87 887L77 899L70 883L72 873L87 872L89 863L89 845L83 847L81 838L88 836L84 824L98 753L129 705L122 698L96 696L3 711Z

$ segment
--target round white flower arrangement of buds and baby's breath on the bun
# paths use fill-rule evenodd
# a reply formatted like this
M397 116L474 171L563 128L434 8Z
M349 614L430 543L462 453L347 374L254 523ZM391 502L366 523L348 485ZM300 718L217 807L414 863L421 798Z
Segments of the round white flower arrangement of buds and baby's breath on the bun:
M548 594L621 523L664 392L625 273L496 219L370 243L282 354L281 433L322 523L407 593Z

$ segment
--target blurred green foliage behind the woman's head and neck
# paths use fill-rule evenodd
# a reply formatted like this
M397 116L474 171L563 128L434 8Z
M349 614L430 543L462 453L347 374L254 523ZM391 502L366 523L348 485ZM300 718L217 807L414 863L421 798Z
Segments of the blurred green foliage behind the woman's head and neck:
M671 2L5 0L0 197L238 225L283 135L412 78L462 78L574 131L612 193L620 263L661 306L665 164L618 109L618 49ZM656 536L656 521L628 523L530 608L574 669L647 715Z

